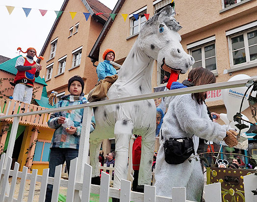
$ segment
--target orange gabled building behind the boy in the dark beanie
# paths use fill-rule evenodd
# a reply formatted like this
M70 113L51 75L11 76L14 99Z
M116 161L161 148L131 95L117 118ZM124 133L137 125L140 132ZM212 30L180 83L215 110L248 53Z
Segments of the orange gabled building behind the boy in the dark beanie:
M69 93L68 80L75 75L83 78L84 93L97 83L96 68L87 56L107 20L105 13L111 12L98 0L65 0L61 11L40 53L45 59L39 60L48 95L57 91L57 100ZM69 12L73 11L77 14L72 19ZM104 14L96 15L99 12ZM90 13L88 19L83 13Z

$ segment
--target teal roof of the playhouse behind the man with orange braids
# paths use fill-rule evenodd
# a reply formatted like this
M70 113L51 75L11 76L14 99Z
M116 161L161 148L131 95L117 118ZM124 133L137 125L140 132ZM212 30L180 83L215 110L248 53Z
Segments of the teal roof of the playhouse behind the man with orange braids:
M16 58L12 58L7 60L6 62L3 62L0 64L0 70L8 72L10 74L16 75L18 70L15 68L15 63L17 58L22 57L22 56L17 56ZM35 78L35 82L38 84L42 84L44 86L47 86L45 80L41 79L40 76Z

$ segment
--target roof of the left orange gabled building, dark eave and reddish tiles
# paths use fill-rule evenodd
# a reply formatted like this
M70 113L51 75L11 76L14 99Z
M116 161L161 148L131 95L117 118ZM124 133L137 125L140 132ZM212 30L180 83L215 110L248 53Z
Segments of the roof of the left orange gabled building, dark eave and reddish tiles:
M62 4L62 7L60 9L60 11L64 11L65 8L66 8L66 5L68 3L69 0L64 0L63 4ZM91 13L91 16L93 18L95 18L95 20L101 24L105 24L107 18L108 18L108 14L106 13L111 13L111 9L109 9L107 6L105 6L103 3L101 3L99 0L81 0L82 3L85 5L86 9L88 10L89 13ZM96 13L99 13L99 12L102 12L102 13L105 13L105 14L102 14L102 15L96 15ZM60 19L61 19L61 16L62 14L60 15L59 18L55 19L53 25L52 25L52 28L47 36L47 40L45 41L44 43L44 46L39 54L39 56L43 56L45 54L45 51L47 49L47 46L51 40L51 37L52 37L52 34L55 30L55 28L57 27ZM37 60L37 62L39 63L40 62L40 58Z

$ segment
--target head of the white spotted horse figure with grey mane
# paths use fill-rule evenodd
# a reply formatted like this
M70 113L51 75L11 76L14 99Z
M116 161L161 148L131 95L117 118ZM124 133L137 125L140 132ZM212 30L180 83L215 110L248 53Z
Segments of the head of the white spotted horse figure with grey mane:
M178 33L182 27L171 15L171 6L156 13L143 26L138 40L144 53L161 67L166 65L184 74L194 64L194 58L183 50Z

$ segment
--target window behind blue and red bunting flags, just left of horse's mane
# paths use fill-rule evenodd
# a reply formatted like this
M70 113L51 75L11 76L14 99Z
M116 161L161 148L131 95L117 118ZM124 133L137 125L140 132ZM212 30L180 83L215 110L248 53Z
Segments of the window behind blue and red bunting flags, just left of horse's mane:
M133 14L129 15L129 18L130 18L129 35L138 33L143 27L143 25L146 23L147 20L144 13L146 13L146 6L133 13L133 14L139 14L137 20L134 18Z

